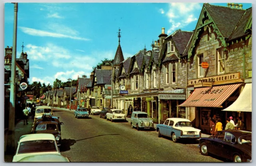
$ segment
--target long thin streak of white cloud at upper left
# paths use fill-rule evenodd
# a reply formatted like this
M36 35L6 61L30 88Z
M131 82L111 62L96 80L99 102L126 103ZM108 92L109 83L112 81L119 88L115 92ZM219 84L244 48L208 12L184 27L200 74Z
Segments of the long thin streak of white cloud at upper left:
M66 35L66 34L60 34L60 33L57 33L57 32L47 32L47 31L36 30L36 29L33 29L33 28L27 28L27 27L19 27L19 28L25 34L29 34L29 35L32 35L32 36L49 36L49 37L53 37L53 38L71 38L71 39L75 39L75 40L84 40L84 41L89 40L89 39L86 39L86 38L81 38L81 37L77 37L77 36L70 36L70 35Z

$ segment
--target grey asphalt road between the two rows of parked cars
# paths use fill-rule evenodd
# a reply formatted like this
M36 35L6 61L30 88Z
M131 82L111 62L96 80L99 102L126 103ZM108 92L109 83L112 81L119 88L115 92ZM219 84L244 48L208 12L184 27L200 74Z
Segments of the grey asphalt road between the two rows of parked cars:
M61 154L71 162L222 162L203 156L197 143L174 143L156 131L137 131L127 122L110 122L90 115L76 119L58 110L62 125Z

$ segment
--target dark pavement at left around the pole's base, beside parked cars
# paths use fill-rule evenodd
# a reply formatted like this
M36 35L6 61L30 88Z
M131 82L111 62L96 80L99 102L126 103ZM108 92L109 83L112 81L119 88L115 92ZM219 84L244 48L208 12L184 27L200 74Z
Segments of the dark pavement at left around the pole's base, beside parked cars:
M30 134L32 125L34 123L34 119L28 119L28 124L23 123L23 120L20 120L16 125L15 125L15 147L17 148L18 146L18 140L20 139L20 136ZM8 132L4 132L4 152L6 152L6 144L7 144L7 139L8 139ZM14 154L8 154L4 155L4 161L5 162L12 162Z

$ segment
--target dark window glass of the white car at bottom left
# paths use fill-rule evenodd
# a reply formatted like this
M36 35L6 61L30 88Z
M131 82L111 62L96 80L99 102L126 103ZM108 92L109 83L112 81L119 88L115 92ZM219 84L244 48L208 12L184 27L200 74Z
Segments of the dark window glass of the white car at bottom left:
M18 154L37 152L58 152L54 140L32 140L20 142Z

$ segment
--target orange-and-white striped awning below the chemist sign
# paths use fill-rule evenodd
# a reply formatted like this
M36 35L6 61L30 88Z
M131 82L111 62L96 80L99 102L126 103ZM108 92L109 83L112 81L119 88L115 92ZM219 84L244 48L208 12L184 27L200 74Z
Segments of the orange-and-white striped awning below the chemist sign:
M178 107L220 107L241 84L196 88Z

